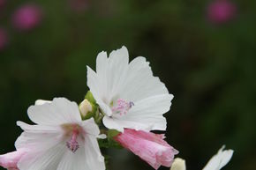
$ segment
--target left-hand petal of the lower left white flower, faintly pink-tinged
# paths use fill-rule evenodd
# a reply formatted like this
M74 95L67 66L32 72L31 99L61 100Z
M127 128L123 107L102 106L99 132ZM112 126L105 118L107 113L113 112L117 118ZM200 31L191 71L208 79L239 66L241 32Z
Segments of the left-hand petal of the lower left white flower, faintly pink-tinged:
M63 132L56 127L29 125L24 122L17 124L26 131L18 137L15 147L17 150L28 150L19 160L19 170L56 170L64 149L67 150Z

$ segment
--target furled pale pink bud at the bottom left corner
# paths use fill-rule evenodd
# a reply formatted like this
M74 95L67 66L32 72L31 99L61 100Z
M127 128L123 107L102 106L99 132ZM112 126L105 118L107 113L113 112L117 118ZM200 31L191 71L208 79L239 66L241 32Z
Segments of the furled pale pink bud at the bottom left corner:
M17 164L19 159L21 159L25 153L25 150L19 150L0 155L0 166L7 169L18 170Z

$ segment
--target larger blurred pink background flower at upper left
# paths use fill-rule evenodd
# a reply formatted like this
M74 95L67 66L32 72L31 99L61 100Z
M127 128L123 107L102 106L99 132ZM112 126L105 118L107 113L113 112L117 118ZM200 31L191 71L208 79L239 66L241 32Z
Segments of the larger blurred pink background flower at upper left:
M41 23L42 13L41 8L35 4L26 4L12 16L12 24L20 31L28 31L38 26Z

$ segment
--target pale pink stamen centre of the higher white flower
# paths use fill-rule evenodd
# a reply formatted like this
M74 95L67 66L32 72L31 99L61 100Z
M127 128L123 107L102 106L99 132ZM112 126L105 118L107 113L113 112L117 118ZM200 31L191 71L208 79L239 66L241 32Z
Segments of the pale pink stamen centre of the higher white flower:
M133 106L134 106L134 103L132 101L128 102L123 99L118 99L117 106L112 107L111 110L112 110L112 112L115 112L117 114L125 115Z

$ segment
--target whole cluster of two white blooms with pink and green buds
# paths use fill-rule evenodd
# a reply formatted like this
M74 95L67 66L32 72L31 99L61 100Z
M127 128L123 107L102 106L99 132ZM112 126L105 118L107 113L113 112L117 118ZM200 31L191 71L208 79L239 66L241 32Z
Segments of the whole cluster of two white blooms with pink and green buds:
M17 122L24 130L15 142L17 151L0 155L0 166L105 170L100 147L124 147L154 169L172 165L177 150L152 130L166 130L163 114L173 95L153 76L146 58L129 63L125 47L109 57L102 52L96 71L87 67L87 85L90 91L79 105L65 98L36 100L27 110L34 125Z

